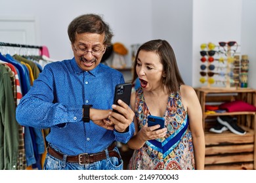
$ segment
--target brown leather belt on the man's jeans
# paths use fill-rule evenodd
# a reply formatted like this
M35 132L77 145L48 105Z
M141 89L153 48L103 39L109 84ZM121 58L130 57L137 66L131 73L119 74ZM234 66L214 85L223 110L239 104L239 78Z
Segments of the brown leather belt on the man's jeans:
M108 154L110 157L116 157L121 159L119 154L116 151L114 151L115 146L116 146L115 142L110 146L108 146ZM54 158L63 160L64 154L57 152L56 150L54 150L54 148L51 148L51 146L48 146L47 149L49 154L51 154L51 156L53 156ZM78 154L77 156L67 156L66 161L70 163L79 163L80 165L83 165L85 163L94 163L102 159L106 159L105 151L98 152L95 154L83 153L83 154Z

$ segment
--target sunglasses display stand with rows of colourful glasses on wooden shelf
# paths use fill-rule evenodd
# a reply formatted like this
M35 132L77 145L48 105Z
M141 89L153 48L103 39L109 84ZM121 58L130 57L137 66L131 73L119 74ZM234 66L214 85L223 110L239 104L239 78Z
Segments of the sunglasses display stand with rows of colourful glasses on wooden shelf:
M201 61L203 62L200 66L202 69L202 71L200 71L200 75L202 76L200 82L207 82L207 85L202 86L202 88L226 90L236 90L237 88L240 88L241 67L240 56L238 55L238 52L236 52L238 50L237 42L219 42L219 46L215 46L215 44L209 42L208 45L201 44L200 47L200 54L202 56ZM209 50L206 50L207 48ZM217 48L217 50L215 50L215 48ZM220 57L214 58L216 55ZM210 69L211 66L213 66L213 68L222 69L221 71L213 72L213 69ZM207 72L203 71L205 68L207 68ZM246 78L247 75L245 75L245 73L243 75L244 78ZM246 86L246 84L244 84L244 86Z

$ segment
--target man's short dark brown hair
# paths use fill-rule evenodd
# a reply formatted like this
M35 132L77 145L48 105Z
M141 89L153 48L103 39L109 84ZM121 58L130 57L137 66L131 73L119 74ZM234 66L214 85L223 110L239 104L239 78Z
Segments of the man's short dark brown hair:
M75 42L75 35L79 33L104 34L104 44L106 46L111 45L113 37L110 26L97 14L83 14L70 22L68 37L72 44Z

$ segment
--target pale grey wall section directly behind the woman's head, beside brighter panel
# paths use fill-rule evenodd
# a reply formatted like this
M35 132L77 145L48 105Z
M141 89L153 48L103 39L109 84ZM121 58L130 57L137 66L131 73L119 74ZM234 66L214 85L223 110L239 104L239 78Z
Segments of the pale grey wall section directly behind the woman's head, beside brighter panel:
M184 82L192 85L192 2L152 1L153 38L165 39L175 52Z

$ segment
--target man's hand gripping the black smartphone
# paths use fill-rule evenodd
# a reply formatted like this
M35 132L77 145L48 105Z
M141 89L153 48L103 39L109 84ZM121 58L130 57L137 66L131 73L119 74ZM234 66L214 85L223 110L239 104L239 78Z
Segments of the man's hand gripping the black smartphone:
M123 133L127 131L127 127L133 122L133 118L135 116L135 113L131 108L124 103L121 100L118 100L117 103L120 105L112 105L112 108L116 109L121 114L118 114L116 112L110 112L110 116L108 116L108 119L110 122L107 122L108 125L114 124L114 128L119 131L120 133Z

